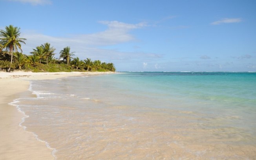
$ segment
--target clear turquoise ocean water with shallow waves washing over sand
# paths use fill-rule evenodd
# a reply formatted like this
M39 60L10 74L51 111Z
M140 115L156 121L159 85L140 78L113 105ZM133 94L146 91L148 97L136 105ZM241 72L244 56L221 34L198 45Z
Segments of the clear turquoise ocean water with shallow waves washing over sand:
M31 81L20 125L56 160L256 159L256 73L121 72Z

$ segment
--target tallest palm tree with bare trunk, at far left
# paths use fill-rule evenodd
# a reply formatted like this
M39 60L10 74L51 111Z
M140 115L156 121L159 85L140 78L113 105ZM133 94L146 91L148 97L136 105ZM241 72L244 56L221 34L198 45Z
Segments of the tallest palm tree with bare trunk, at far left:
M9 54L11 55L11 64L13 63L13 51L22 51L21 49L21 43L26 44L24 40L25 38L19 38L20 36L20 28L13 27L13 25L9 25L5 27L4 30L0 30L0 43L2 45L2 48L6 48L6 50L9 50ZM11 70L11 65L8 69L8 72Z

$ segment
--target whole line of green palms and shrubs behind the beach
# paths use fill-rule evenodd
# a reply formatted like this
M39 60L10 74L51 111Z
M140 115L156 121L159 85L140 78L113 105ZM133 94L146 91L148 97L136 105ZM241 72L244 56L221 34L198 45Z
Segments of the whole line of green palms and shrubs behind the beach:
M60 51L58 59L55 58L55 48L48 42L37 46L30 55L22 53L21 44L26 44L26 38L20 37L20 28L9 25L0 30L0 70L10 72L23 69L34 72L58 71L115 71L113 63L92 61L90 58L80 60L70 47ZM21 52L19 52L19 50Z

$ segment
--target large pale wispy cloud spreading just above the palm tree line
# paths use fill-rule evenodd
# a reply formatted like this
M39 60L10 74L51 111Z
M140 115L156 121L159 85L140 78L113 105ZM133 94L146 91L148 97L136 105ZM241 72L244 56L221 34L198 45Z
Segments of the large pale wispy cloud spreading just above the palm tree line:
M59 57L59 52L66 46L70 46L71 51L79 58L101 59L102 61L112 60L134 60L134 59L158 59L163 55L143 52L125 52L118 49L102 49L108 45L118 45L136 40L130 31L147 26L141 22L138 24L126 24L118 21L100 21L107 25L108 29L98 33L87 35L71 35L69 37L54 37L36 33L34 31L22 31L22 38L26 38L26 45L22 45L25 54L29 54L38 45L49 42L56 48L55 57Z

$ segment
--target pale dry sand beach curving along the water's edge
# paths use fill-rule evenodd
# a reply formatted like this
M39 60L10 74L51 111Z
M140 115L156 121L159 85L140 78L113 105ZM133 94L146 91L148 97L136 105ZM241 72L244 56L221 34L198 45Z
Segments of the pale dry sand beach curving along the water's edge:
M51 149L38 141L33 133L27 132L19 124L24 114L10 105L14 99L26 94L29 80L55 79L67 76L98 75L101 73L32 73L0 72L0 160L53 160ZM27 91L27 94L30 94Z

